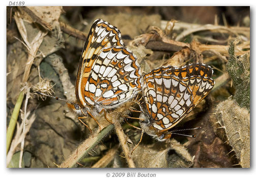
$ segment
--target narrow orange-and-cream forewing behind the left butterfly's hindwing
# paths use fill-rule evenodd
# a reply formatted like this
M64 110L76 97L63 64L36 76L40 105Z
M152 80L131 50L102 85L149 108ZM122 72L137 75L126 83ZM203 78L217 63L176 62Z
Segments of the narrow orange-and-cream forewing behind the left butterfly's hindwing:
M102 49L115 46L123 46L120 31L106 21L95 20L84 45L76 78L76 98L80 105L86 105L84 88L97 55Z

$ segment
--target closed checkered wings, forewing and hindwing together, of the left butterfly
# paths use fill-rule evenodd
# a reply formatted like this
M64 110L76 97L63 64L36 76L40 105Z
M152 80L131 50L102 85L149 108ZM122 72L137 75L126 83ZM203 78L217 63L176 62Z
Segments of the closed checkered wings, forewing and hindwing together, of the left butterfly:
M140 66L124 48L120 31L101 19L91 26L76 80L80 105L114 108L133 97L140 84Z

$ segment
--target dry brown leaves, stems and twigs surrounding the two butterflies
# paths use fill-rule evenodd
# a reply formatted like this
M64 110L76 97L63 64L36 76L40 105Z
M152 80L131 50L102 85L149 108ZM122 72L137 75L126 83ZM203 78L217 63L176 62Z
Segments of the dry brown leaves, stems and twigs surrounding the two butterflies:
M250 167L249 7L7 7L8 167ZM116 26L144 72L203 62L216 84L179 125L202 127L157 142L122 122L81 124L65 102L75 100L80 54L95 19ZM123 106L123 110L132 103ZM132 106L136 108L136 106ZM119 108L120 109L120 108ZM109 117L121 116L114 111ZM138 117L136 113L126 113ZM127 122L138 126L138 120ZM26 123L26 124L25 124ZM125 141L120 141L123 136ZM124 152L123 152L124 151ZM21 160L22 159L22 160Z

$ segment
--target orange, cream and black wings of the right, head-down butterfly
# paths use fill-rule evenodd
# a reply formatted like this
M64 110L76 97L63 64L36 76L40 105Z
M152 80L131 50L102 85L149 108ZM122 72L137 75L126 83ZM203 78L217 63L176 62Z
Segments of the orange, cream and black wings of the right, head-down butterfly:
M157 130L168 130L204 99L214 86L210 66L195 63L158 68L144 75L146 109Z

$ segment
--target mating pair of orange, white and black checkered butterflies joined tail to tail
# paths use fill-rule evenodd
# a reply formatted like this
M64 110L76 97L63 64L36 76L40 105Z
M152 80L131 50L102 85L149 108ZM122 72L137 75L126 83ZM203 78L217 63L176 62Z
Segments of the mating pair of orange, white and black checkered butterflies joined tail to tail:
M141 75L140 65L124 47L120 31L106 21L95 20L80 58L77 103L67 104L80 116L89 114L94 118L134 98L142 89L142 129L164 140L171 136L168 130L204 99L214 85L211 67L199 63L157 68Z

